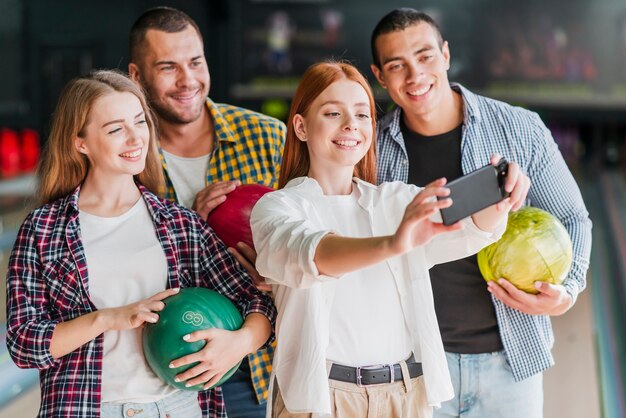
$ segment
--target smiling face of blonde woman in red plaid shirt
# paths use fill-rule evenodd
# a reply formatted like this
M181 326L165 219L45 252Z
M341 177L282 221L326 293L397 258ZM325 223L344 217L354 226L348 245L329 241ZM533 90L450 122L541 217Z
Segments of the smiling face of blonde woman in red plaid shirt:
M132 93L113 92L92 105L87 125L74 140L89 160L89 175L136 175L146 164L150 129Z

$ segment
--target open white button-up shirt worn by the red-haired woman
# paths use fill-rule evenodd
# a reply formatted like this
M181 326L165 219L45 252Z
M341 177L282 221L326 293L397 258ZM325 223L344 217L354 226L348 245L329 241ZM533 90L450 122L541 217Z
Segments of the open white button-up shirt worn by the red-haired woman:
M406 205L421 190L402 182L380 186L359 179L354 182L360 195L358 204L369 214L372 236L393 234ZM257 249L256 268L272 284L278 308L272 374L287 409L313 413L314 417L330 416L326 350L338 278L319 274L313 261L320 240L335 232L328 226L329 210L332 206L327 204L319 184L300 177L284 189L264 195L250 217ZM478 229L471 218L463 224L461 231L441 234L424 246L384 262L400 294L413 352L423 363L426 395L433 406L452 398L453 389L428 269L474 254L495 242L506 228L506 217L493 233Z

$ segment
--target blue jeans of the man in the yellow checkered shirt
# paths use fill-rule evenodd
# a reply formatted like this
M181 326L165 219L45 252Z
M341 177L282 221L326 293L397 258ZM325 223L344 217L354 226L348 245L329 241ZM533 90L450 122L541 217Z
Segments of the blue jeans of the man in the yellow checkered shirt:
M265 418L266 403L259 404L256 399L247 357L222 385L222 394L228 418Z

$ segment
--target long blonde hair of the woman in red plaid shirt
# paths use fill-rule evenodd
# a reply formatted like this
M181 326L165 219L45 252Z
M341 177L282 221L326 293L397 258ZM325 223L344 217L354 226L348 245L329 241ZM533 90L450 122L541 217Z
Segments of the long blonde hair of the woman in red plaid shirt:
M89 160L78 152L74 139L85 135L89 112L96 100L114 92L131 93L139 99L150 130L146 166L135 178L155 194L162 194L165 190L155 122L143 91L122 72L100 70L73 79L61 92L52 116L50 136L37 170L37 197L41 204L68 195L85 180Z

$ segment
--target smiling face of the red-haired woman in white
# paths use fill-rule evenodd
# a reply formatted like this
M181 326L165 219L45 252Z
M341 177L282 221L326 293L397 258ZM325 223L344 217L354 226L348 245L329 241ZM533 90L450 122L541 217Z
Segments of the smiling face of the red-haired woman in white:
M370 101L365 89L348 79L329 85L305 115L294 117L294 129L306 141L309 176L320 178L349 173L372 144Z

